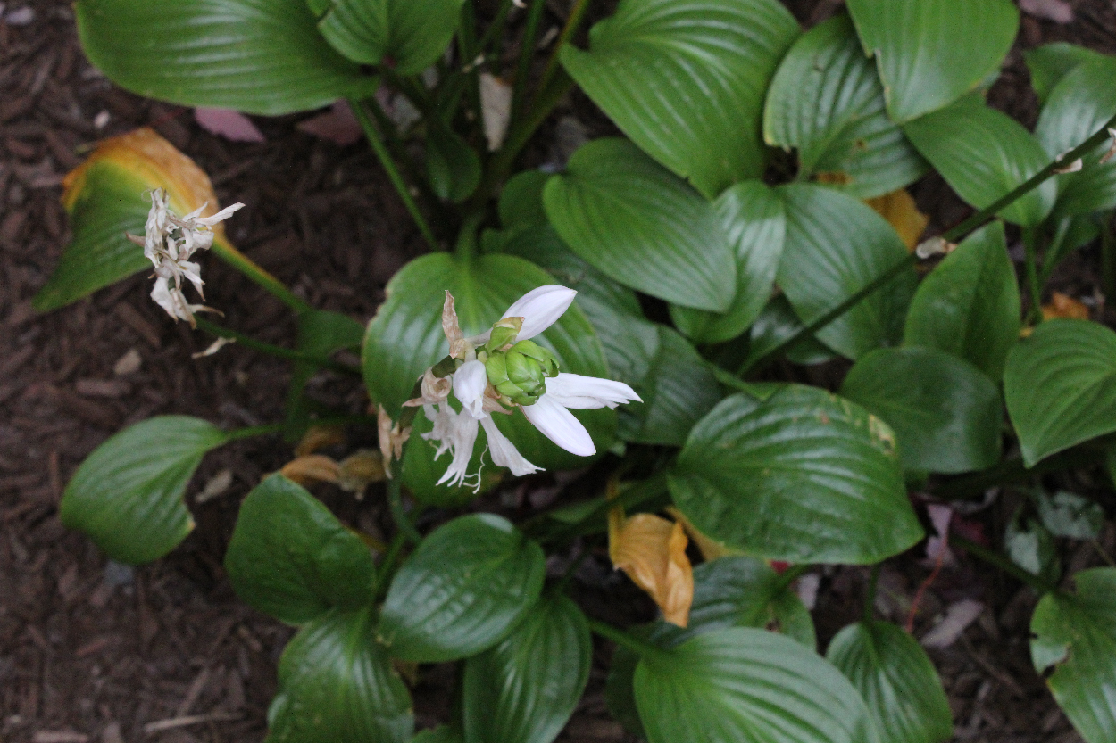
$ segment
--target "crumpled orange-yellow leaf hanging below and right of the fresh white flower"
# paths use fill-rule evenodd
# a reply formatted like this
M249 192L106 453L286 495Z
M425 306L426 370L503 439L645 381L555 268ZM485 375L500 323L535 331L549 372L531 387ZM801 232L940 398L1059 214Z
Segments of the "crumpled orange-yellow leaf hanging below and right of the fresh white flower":
M625 518L608 512L608 557L658 605L663 619L679 627L690 621L694 576L682 524L651 513Z

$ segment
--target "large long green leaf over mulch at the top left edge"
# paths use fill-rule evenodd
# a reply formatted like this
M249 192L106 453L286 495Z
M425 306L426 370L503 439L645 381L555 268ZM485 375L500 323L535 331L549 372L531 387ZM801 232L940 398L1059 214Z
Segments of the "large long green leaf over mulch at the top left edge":
M89 61L148 98L276 115L376 90L305 0L78 0L75 15Z

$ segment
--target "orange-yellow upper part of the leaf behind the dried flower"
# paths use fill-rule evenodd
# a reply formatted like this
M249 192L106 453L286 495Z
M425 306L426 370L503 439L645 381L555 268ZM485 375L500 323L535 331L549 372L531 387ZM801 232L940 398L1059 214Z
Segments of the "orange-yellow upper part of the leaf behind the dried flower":
M220 211L213 184L205 172L147 127L103 141L88 160L66 175L62 180L62 206L66 211L73 211L87 176L102 165L119 168L148 189L165 189L170 208L179 215L189 214L202 204L208 205L201 216ZM214 224L213 232L214 241L227 243L223 224Z

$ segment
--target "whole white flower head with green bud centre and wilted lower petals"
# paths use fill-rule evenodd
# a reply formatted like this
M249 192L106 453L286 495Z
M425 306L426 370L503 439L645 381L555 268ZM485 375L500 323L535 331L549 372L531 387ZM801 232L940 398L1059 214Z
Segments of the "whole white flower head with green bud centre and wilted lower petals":
M558 372L554 355L530 340L561 317L576 293L558 284L539 287L509 307L490 330L463 338L453 296L446 292L442 326L459 364L452 389L462 409L459 413L450 405L445 386L435 392L429 370L423 396L407 402L422 405L434 424L423 438L436 442L435 459L451 454L450 466L437 484L480 488L480 472L468 473L479 426L484 427L494 464L517 476L541 469L528 462L500 432L492 413L511 414L518 407L547 438L573 454L589 456L596 454L596 446L569 408L614 408L639 399L622 382Z

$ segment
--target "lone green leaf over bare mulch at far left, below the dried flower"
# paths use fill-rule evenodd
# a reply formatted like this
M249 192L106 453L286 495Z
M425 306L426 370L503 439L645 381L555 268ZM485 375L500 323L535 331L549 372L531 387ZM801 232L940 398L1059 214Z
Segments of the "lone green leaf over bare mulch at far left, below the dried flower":
M140 565L179 546L194 520L182 502L202 456L228 441L211 423L160 415L119 432L85 459L66 485L62 523L112 559Z

